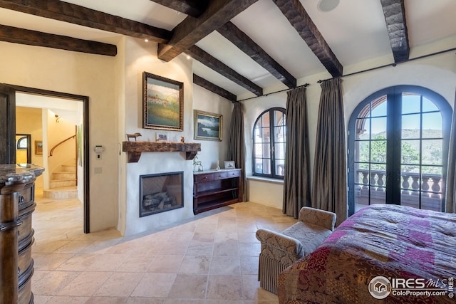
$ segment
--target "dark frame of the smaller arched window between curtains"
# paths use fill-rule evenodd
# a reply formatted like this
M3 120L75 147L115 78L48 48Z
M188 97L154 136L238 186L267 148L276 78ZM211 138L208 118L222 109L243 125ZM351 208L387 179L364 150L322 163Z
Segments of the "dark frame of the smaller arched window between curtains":
M269 108L267 110L264 110L264 112L262 112L258 117L257 117L257 120L255 120L254 122L254 127L253 127L253 130L252 130L252 142L253 142L253 145L252 145L252 174L254 176L257 176L257 177L267 177L267 178L271 178L271 179L284 179L284 175L279 175L277 174L276 172L276 157L275 157L275 153L274 153L274 146L276 144L275 142L275 134L274 134L274 112L275 111L279 111L279 112L282 112L285 120L286 120L286 110L284 108L279 108L279 107L274 107L274 108ZM259 158L259 157L255 157L255 149L256 149L256 141L255 141L255 129L257 128L257 124L258 122L261 120L261 118L263 117L264 114L268 113L269 112L269 131L270 131L270 140L269 140L269 159L271 159L271 174L261 174L261 173L258 173L256 172L255 170L255 166L256 166L256 162L255 162L255 159ZM286 127L286 125L284 124L284 127ZM284 132L284 134L286 134L286 132ZM272 136L271 136L272 135ZM286 138L284 140L284 142L286 143ZM285 158L285 155L284 155L284 158ZM261 157L261 159L267 159L266 157Z

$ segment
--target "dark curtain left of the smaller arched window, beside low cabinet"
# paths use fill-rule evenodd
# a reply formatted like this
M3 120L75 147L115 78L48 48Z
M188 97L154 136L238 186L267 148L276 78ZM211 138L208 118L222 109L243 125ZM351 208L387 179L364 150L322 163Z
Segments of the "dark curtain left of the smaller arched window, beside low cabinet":
M229 125L228 160L234 160L237 168L241 168L241 194L240 201L245 200L245 140L244 140L244 112L242 103L234 103L234 109Z

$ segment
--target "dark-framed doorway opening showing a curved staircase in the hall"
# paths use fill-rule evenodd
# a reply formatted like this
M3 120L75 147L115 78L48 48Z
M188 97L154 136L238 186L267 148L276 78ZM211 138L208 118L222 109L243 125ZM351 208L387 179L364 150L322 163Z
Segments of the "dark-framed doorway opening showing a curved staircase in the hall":
M36 211L46 211L34 216L41 221L36 234L52 239L59 233L89 233L88 97L12 87L16 138L24 145L24 135L30 135L27 161L45 168L35 183Z

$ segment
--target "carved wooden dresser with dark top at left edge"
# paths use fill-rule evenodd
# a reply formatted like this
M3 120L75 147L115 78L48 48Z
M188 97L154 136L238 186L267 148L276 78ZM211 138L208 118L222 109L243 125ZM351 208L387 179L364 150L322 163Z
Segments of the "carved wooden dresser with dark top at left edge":
M0 164L0 303L33 304L35 180L43 168Z

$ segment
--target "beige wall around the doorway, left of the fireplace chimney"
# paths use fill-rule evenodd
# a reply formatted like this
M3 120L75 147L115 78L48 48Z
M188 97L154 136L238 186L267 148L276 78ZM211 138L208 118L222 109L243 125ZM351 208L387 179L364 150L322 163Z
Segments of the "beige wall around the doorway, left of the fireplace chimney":
M90 231L118 222L118 136L115 70L118 57L0 42L0 83L89 97L89 145L104 145L103 159L90 152ZM91 150L90 150L91 151ZM101 169L94 173L94 167ZM82 223L81 223L82 226Z

